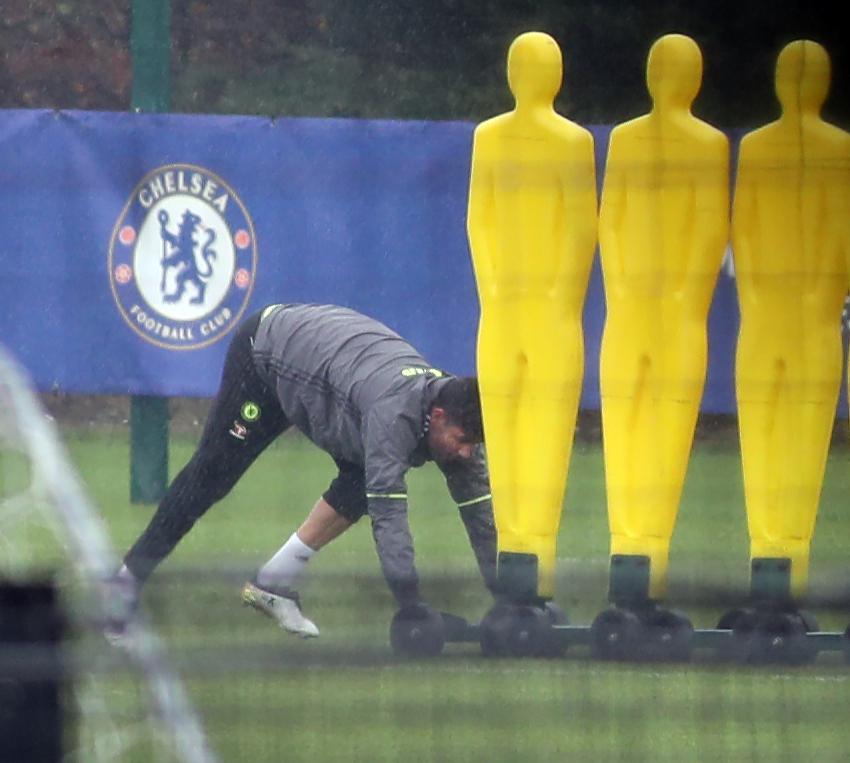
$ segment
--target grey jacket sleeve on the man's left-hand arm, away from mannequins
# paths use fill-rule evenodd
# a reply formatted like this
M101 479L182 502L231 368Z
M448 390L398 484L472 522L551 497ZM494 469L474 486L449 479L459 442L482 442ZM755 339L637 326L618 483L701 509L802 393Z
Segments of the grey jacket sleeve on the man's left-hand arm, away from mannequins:
M420 600L405 483L408 454L415 446L416 435L403 418L382 410L370 413L365 431L366 500L381 570L399 606Z

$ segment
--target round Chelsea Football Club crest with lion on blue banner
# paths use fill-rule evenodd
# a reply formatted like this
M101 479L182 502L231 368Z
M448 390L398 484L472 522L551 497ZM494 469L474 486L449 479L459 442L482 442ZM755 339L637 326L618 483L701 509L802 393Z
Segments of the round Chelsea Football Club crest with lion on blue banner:
M124 320L170 350L217 342L254 285L254 226L236 192L202 167L170 164L133 190L109 243L109 279Z

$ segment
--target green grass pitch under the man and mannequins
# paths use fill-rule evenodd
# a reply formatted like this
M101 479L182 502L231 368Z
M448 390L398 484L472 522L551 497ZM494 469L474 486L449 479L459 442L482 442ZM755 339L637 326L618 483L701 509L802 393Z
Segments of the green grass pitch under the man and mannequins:
M66 434L123 553L152 511L128 501L128 438L120 431ZM172 442L172 472L192 445ZM847 584L846 450L839 444L830 457L812 549L813 592ZM394 608L367 522L311 563L303 598L322 637L283 635L240 606L239 587L297 526L332 468L303 439L285 436L201 520L145 592L223 761L847 759L850 666L837 654L804 668L749 668L710 659L603 664L578 650L558 660L488 660L475 645L449 645L436 660L397 660L387 643ZM439 608L479 618L488 596L439 473L414 470L408 486L425 595ZM605 606L607 547L600 448L578 442L556 596L572 622L590 622ZM673 540L670 601L697 627L710 627L726 606L714 594L744 592L746 577L737 449L697 442ZM817 614L822 627L843 630L850 619L850 612Z

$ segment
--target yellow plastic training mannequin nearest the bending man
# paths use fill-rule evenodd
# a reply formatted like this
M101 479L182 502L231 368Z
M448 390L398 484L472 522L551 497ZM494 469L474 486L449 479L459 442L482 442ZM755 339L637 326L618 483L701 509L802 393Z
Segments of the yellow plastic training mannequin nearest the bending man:
M553 108L561 67L550 36L517 37L508 53L516 106L478 125L472 151L478 375L499 574L516 598L554 592L596 246L593 138Z

